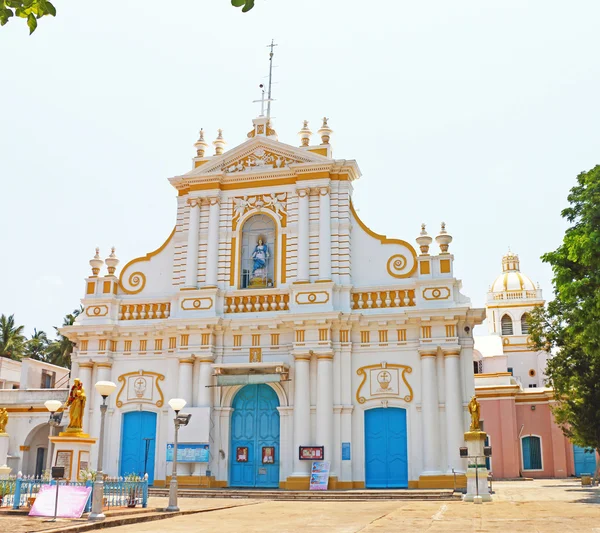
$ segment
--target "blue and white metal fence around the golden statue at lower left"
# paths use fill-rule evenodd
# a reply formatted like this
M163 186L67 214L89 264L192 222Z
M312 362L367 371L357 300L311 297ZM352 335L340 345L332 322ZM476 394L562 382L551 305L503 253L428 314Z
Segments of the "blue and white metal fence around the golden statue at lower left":
M12 507L13 509L30 507L42 485L55 484L55 480L33 476L18 476L12 479L0 480L0 495L2 495L0 507ZM60 486L92 487L92 494L88 499L84 512L88 513L92 510L94 482L91 477L88 477L86 481L60 480L59 484ZM122 477L106 477L104 479L104 508L136 507L138 505L148 506L147 475L140 481L126 481Z

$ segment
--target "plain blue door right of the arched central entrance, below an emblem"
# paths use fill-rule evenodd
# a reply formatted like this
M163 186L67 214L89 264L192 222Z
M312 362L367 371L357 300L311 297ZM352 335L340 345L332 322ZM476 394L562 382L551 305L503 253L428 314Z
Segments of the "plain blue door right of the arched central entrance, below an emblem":
M406 411L365 411L365 484L371 489L408 487Z

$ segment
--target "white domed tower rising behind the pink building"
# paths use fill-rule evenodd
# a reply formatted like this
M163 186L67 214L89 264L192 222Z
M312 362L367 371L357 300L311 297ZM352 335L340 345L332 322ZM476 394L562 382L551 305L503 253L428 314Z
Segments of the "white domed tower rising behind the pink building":
M520 271L519 256L508 252L487 296L488 335L474 338L475 374L508 372L523 388L544 387L547 354L529 348L527 325L541 305L542 290Z

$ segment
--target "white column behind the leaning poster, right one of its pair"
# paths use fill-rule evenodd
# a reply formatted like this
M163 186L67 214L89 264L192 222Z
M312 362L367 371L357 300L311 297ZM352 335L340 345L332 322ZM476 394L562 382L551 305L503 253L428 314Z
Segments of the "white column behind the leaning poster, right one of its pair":
M316 445L324 446L325 460L333 466L333 355L319 354L317 358Z

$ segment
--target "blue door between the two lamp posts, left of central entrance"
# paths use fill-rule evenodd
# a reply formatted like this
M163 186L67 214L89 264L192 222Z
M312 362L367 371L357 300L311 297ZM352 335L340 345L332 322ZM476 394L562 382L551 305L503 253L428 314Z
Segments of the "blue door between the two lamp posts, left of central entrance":
M156 413L134 411L123 415L121 429L120 475L148 474L154 482L154 453L156 450Z

